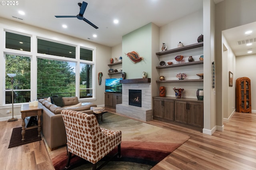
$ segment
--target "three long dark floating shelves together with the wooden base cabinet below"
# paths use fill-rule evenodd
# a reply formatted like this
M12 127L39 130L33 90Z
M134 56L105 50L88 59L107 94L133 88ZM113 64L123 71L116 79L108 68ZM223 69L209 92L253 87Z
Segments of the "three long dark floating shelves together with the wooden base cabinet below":
M167 51L161 51L156 53L156 55L161 57L161 55L195 49L198 47L202 47L203 45L204 45L203 42L195 43L191 45L186 45L184 47L178 47L178 48L170 49ZM202 50L202 49L198 49L198 50ZM161 65L161 66L157 66L156 69L160 69L159 72L161 74L162 69L180 67L181 68L180 70L182 71L182 68L187 67L189 65L203 65L203 63L204 63L203 60L192 61L192 62L177 63L177 64L171 64L171 65ZM203 68L203 66L201 68ZM166 73L166 71L164 71L164 73ZM201 86L203 86L204 79L200 79L199 77L197 79L183 79L183 80L179 80L179 79L156 80L157 83L168 83L166 84L167 86L170 86L170 83L172 82L189 83L189 82L198 82L198 81L202 82ZM182 86L184 86L184 84ZM172 89L172 87L169 87L169 89ZM200 101L198 99L184 98L184 97L182 97L181 99L178 99L176 97L160 97L160 96L153 97L153 119L202 131L204 127L204 101Z

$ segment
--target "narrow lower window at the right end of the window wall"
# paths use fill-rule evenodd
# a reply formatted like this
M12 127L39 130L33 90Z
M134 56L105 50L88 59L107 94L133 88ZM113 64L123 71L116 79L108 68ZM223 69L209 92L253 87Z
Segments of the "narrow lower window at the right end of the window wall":
M80 63L80 98L92 97L92 65Z

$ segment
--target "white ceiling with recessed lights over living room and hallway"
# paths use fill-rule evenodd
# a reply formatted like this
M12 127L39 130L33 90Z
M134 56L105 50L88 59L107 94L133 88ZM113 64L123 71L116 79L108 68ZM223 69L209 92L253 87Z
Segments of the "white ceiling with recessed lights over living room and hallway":
M215 3L221 1L223 0L214 0ZM16 6L1 5L0 17L110 47L120 44L125 34L150 22L161 27L203 8L203 0L85 0L88 6L84 12L84 18L99 27L95 29L77 18L54 17L56 15L76 16L80 11L78 2L82 0L20 0L17 2ZM18 14L19 10L24 11L25 15ZM119 20L117 25L113 23L114 19ZM62 24L66 24L68 28L62 28ZM256 28L255 25L253 26ZM246 55L247 48L244 45L236 45L236 42L246 39L243 30L247 28L241 26L234 29L224 31L224 35L236 55ZM96 34L97 38L93 38L93 34ZM256 30L252 37L256 38ZM252 48L255 49L254 46Z

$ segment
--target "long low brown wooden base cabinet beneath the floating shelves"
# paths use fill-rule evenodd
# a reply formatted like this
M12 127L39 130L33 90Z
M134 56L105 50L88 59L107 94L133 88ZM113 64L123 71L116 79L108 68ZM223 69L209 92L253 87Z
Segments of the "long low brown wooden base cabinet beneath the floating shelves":
M153 97L153 119L202 131L204 103L197 99Z

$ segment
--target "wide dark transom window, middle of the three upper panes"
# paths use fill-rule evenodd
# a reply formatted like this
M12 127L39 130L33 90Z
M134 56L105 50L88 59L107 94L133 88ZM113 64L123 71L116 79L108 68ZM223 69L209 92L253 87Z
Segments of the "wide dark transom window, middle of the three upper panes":
M37 39L37 52L41 54L76 58L76 47Z

